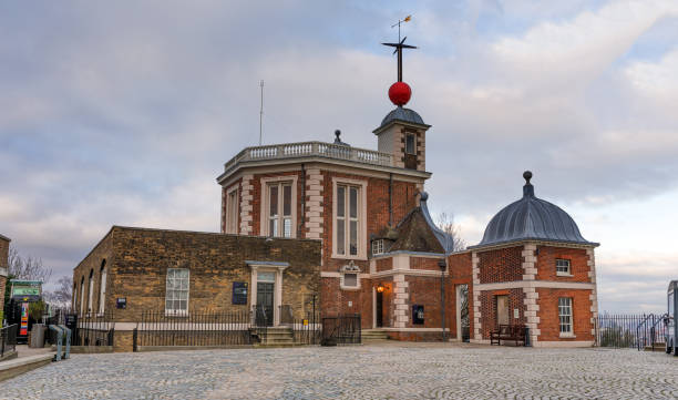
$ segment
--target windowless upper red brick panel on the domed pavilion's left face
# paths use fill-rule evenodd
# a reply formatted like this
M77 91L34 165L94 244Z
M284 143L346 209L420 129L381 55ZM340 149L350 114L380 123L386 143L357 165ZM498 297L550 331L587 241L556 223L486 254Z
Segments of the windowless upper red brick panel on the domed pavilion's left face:
M481 284L523 280L522 252L516 246L479 253Z

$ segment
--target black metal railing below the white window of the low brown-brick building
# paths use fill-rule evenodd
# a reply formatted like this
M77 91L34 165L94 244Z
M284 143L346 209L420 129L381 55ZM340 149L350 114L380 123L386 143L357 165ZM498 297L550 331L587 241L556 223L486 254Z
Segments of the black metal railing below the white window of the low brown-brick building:
M250 345L248 311L199 312L184 315L146 310L136 324L134 348L140 346L238 346Z

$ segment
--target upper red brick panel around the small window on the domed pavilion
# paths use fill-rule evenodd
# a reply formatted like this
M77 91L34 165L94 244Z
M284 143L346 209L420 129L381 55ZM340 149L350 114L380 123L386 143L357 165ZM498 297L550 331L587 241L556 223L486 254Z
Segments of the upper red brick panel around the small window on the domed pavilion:
M590 267L587 265L586 249L551 246L538 246L537 249L540 252L537 256L537 280L590 281L588 277ZM555 270L556 258L568 259L574 276L557 276Z

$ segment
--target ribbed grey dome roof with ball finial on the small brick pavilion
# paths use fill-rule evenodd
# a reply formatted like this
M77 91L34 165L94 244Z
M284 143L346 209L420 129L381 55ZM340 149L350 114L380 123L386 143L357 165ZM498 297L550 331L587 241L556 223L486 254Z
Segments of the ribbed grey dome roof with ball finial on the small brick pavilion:
M469 248L503 245L523 240L545 240L598 246L586 240L574 219L555 204L534 195L532 173L523 174L523 198L500 211L487 224L481 243Z

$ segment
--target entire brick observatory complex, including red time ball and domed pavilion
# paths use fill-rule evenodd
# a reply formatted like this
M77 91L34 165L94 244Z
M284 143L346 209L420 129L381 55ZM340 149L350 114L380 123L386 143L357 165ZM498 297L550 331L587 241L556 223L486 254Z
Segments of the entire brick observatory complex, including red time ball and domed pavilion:
M389 45L401 60L407 47ZM526 173L523 198L490 222L480 244L453 253L423 191L431 125L403 106L411 90L400 68L389 90L396 109L372 131L377 151L349 145L339 131L331 143L243 150L217 177L222 234L113 227L75 268L74 305L91 314L122 296L120 321L143 308L174 311L175 300L182 309L188 301L230 309L220 296L238 279L253 294L240 308L279 312L276 306L290 301L302 309L302 297L318 294L325 316L359 314L362 329L392 339L449 334L485 342L499 325L520 324L536 346L590 345L597 244L564 211L535 197ZM278 250L269 253L266 238ZM289 268L277 269L280 263ZM281 295L256 296L257 265L278 270L270 284ZM167 298L165 281L177 268L189 270L189 298Z

